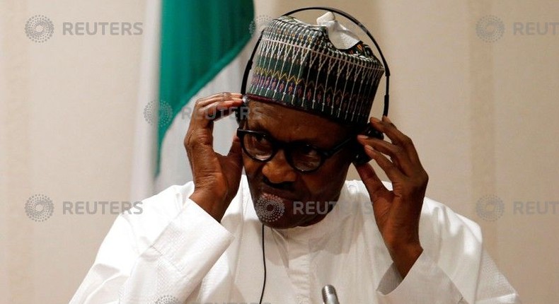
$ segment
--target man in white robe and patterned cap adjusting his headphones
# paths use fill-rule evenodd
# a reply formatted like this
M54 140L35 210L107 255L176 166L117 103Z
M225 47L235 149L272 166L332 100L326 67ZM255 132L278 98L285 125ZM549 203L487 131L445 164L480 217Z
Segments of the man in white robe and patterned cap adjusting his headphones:
M368 119L382 71L332 18L272 21L246 103L196 102L193 182L119 216L71 303L321 303L326 284L340 303L519 303L476 223L425 198L408 136ZM209 117L241 106L221 156ZM390 141L357 135L367 124ZM369 164L345 180L362 150L391 184Z

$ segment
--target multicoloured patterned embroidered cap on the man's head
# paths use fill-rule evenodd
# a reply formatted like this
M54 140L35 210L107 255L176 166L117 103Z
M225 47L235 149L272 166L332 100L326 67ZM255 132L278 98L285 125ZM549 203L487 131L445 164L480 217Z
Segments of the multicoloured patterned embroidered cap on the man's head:
M367 124L383 74L361 41L338 49L326 26L282 16L263 30L247 95L343 124Z

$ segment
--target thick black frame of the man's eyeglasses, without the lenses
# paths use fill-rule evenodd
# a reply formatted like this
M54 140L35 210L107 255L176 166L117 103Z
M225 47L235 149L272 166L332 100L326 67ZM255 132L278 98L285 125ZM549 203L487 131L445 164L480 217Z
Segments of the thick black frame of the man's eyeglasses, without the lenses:
M258 134L259 136L263 136L264 139L269 141L270 145L272 146L272 153L270 154L270 157L268 157L266 159L260 159L260 158L256 158L255 156L251 155L250 153L248 153L248 151L246 149L246 146L245 146L245 141L244 141L244 137L245 137L246 134ZM266 163L266 162L270 161L272 158L274 158L277 151L280 151L280 149L283 149L283 151L285 153L285 158L287 159L287 163L289 163L289 165L291 165L292 168L294 168L299 173L312 173L312 172L318 170L319 168L321 168L321 166L324 164L324 162L326 160L328 160L328 158L330 158L330 157L334 156L336 153L342 151L342 148L344 148L344 146L346 146L347 144L349 144L350 142L353 141L353 137L350 137L350 138L345 139L344 141L342 141L340 144L334 146L330 150L325 150L323 148L318 148L317 146L313 146L311 144L305 144L304 141L291 141L291 142L279 141L279 140L273 138L272 136L270 136L270 134L267 134L266 132L263 132L263 131L253 131L253 130L238 128L237 129L237 136L241 140L241 148L243 148L243 151L251 159L259 161L261 163ZM318 163L316 168L313 168L311 170L301 170L299 168L296 168L296 166L293 163L292 150L293 150L293 148L295 148L297 146L312 148L318 153L319 156L321 156L321 161L320 161L320 163Z

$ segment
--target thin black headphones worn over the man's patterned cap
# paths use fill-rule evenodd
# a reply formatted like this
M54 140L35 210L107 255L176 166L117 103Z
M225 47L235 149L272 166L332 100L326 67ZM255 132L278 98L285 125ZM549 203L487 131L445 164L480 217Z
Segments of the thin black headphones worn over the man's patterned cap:
M330 11L332 13L338 13L339 15L344 16L345 18L347 18L348 20L352 21L357 26L359 26L359 28L361 28L361 30L363 30L363 32L367 34L369 39L371 39L374 46L376 47L376 50L379 51L382 64L384 65L384 73L385 73L384 75L386 77L386 90L384 93L384 110L382 112L382 115L388 116L388 104L389 104L388 89L390 87L390 69L388 69L388 63L386 63L386 59L384 59L384 55L382 54L381 48L379 47L379 44L376 43L376 40L374 39L373 35L371 35L371 33L369 33L369 30L367 30L367 28L365 28L365 26L362 23L360 23L355 17L351 16L349 13L345 13L345 11L340 11L336 8L325 7L325 6L311 6L306 8L298 8L294 11L289 11L287 13L284 13L282 16L289 16L292 15L293 13L298 13L300 11L310 11L310 10L321 10L321 11ZM252 69L254 54L256 53L256 49L258 49L258 45L260 45L260 40L262 40L262 33L260 33L260 37L258 37L258 41L256 41L256 45L254 46L252 54L250 54L250 59L248 59L248 62L246 63L245 72L243 74L243 81L241 84L241 94L243 95L243 102L245 103L246 103L246 83L248 81L248 74L250 73L250 69ZM248 113L248 109L246 109L246 107L238 107L235 111L237 122L240 123L241 117L246 117L246 113ZM362 131L359 132L359 134L376 137L378 139L384 139L384 135L380 131L374 129L369 123L367 124L367 127L365 127ZM369 160L371 160L371 158L367 156L367 154L365 153L364 149L361 147L360 144L357 145L358 145L357 146L358 152L355 155L355 159L353 160L353 163L355 163L356 165L362 165L364 163L368 163Z

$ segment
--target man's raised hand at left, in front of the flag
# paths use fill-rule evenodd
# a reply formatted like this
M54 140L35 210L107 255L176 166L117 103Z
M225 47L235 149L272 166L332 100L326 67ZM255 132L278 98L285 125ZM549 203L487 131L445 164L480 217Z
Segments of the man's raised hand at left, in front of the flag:
M242 105L240 93L217 93L196 100L184 145L192 168L194 192L190 196L209 215L221 221L241 182L241 142L234 136L227 156L214 151L212 135L216 112L231 114Z

